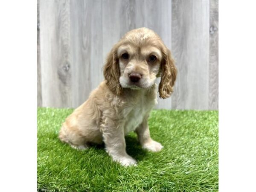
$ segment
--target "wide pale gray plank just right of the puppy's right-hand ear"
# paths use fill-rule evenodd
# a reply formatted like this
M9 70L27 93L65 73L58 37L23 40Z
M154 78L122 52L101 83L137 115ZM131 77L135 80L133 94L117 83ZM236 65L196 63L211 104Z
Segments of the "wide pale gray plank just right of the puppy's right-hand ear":
M178 76L172 108L208 109L209 1L172 1L172 52Z

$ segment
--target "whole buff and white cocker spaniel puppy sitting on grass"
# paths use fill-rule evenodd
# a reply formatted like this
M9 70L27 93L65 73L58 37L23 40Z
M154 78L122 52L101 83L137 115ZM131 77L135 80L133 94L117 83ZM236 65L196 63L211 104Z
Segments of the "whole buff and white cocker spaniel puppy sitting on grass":
M135 131L148 151L163 148L150 137L148 117L157 104L157 77L161 77L160 98L165 99L173 92L176 74L170 50L154 31L139 28L127 32L107 56L105 81L67 117L60 140L77 149L104 142L114 161L136 165L126 153L125 135Z

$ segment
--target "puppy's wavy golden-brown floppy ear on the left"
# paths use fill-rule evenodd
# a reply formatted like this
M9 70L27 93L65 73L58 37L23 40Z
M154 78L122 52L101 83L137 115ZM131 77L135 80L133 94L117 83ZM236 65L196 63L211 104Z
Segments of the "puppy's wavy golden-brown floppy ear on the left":
M117 45L115 45L111 49L111 52L108 53L103 75L107 81L109 89L113 93L120 95L122 93L122 87L119 83L120 72L119 61L117 58Z

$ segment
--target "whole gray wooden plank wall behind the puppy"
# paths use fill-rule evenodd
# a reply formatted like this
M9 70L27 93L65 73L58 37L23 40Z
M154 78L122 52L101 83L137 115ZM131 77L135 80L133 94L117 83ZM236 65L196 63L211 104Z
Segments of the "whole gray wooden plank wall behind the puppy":
M175 93L156 108L218 109L218 0L39 0L39 8L38 106L79 106L103 80L113 44L145 26L178 68Z

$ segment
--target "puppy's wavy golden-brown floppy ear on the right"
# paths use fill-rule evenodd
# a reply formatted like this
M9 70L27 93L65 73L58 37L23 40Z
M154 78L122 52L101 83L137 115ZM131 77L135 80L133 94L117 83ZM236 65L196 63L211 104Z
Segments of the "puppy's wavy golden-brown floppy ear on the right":
M174 64L171 51L168 48L162 49L163 59L161 62L161 81L159 84L160 98L166 99L171 96L173 92L173 86L176 80L177 68Z

